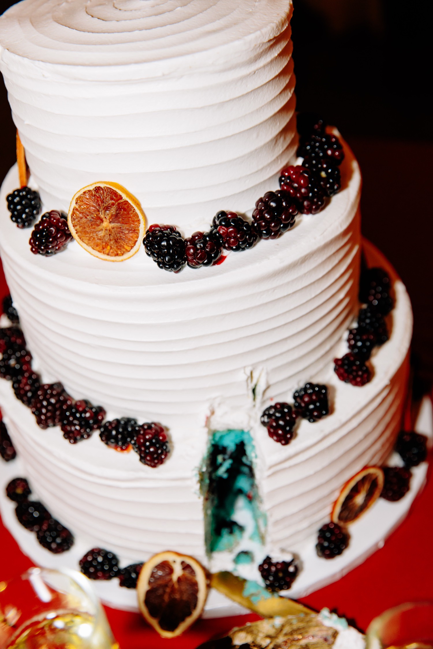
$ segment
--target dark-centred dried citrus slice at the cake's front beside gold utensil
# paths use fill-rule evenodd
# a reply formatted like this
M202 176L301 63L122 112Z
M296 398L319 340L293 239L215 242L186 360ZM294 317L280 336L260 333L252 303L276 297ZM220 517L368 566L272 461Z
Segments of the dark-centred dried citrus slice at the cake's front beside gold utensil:
M138 606L163 638L174 638L197 620L208 594L206 572L193 557L160 552L143 565Z

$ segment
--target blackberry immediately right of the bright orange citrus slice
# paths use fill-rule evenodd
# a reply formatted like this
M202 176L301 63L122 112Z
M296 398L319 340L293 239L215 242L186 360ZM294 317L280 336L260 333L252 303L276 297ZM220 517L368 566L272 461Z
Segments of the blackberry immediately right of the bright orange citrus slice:
M149 227L143 239L146 254L164 271L178 273L186 264L185 241L173 225Z

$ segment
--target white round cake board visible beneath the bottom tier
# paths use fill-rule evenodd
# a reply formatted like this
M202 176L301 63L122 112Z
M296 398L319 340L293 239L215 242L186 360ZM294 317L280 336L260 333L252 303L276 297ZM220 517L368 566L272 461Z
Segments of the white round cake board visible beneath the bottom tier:
M433 437L432 402L425 397L415 430ZM58 568L69 567L77 569L79 559L93 546L90 538L76 538L75 544L64 554L51 554L36 541L34 533L23 528L15 516L15 504L5 496L5 486L12 478L21 476L19 458L8 463L1 463L0 478L0 511L4 524L12 533L22 552L29 556L36 565ZM421 491L427 476L427 462L412 469L410 491L398 502L388 502L379 498L375 505L358 521L351 525L351 543L345 552L332 561L320 559L315 553L314 543L307 545L301 554L302 570L290 591L284 594L292 599L305 597L317 589L335 582L344 574L360 565L370 554L382 548L386 537L406 517L415 496ZM25 477L25 476L22 476ZM121 588L118 580L112 582L93 582L99 597L108 606L136 611L136 591ZM247 609L235 604L221 593L212 590L206 603L203 617L225 617L249 613Z

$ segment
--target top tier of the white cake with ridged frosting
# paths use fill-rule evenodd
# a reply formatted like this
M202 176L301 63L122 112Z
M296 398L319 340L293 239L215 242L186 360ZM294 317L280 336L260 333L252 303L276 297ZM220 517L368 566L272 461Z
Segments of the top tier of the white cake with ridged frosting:
M295 150L291 0L23 0L0 67L46 208L119 182L189 236Z

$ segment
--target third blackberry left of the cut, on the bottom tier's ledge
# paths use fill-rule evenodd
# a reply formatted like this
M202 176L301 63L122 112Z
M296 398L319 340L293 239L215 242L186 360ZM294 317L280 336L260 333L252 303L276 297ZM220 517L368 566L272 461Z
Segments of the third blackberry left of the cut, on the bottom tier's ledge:
M76 444L90 437L93 430L99 428L104 419L105 410L101 406L92 406L86 399L80 399L75 403L69 400L62 409L60 428L64 438L71 444Z

